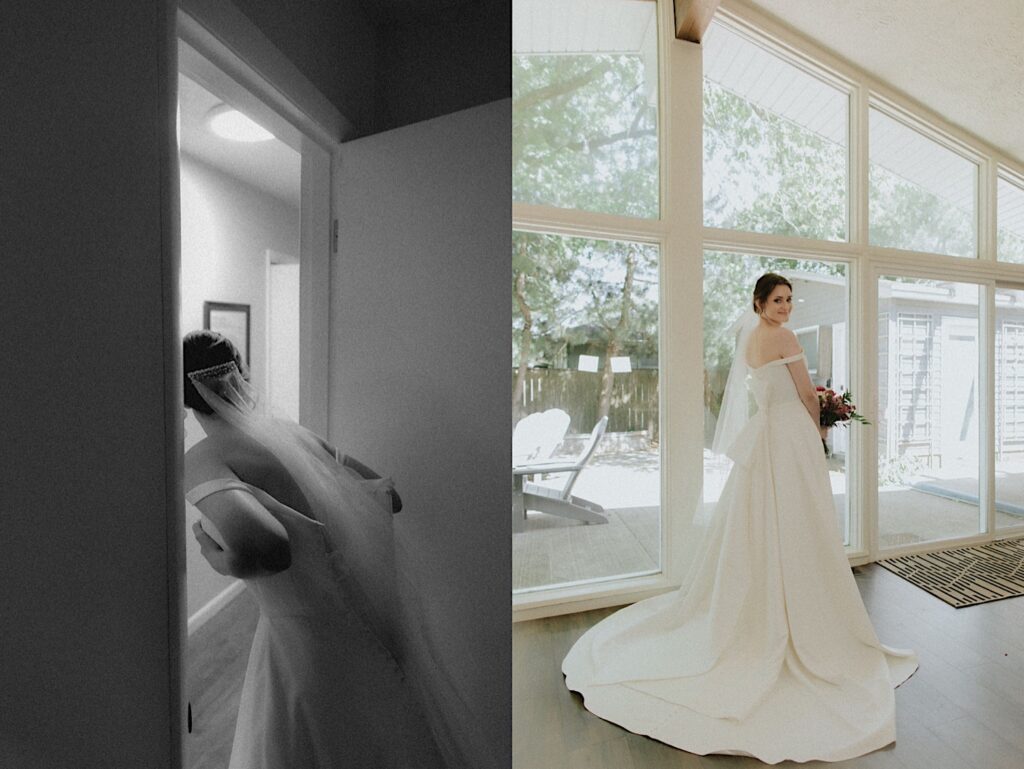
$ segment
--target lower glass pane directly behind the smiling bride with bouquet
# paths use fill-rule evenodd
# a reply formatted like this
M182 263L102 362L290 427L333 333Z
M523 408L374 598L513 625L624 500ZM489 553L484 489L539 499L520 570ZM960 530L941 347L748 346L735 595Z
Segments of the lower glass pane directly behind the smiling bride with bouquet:
M785 275L793 283L794 310L787 328L797 334L807 354L808 369L814 384L831 387L838 392L846 389L850 381L847 344L849 289L847 265L838 262L706 251L703 267L703 503L706 509L710 509L718 501L732 466L728 459L712 454L711 445L715 437L715 424L722 404L725 380L729 367L732 366L735 323L750 307L757 279L764 272L773 271ZM850 452L851 429L856 430L857 426L833 429L833 456L828 460L828 475L836 503L836 523L847 545L850 544L847 456ZM708 520L707 516L703 520Z

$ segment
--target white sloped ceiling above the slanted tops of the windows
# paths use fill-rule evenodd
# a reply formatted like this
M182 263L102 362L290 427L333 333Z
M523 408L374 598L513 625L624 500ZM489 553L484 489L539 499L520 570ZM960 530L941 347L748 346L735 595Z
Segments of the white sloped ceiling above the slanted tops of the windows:
M1024 164L1024 1L739 0Z

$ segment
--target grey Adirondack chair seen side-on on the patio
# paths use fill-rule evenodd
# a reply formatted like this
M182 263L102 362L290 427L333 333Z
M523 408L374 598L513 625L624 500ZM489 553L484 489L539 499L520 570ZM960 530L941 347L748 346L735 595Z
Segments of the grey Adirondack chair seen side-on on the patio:
M521 531L526 520L527 510L537 510L549 515L559 515L572 518L584 523L607 523L608 519L601 515L604 508L595 502L572 496L572 486L590 461L594 450L604 435L608 418L602 417L594 429L583 452L574 460L551 460L548 462L529 462L512 468L512 530ZM565 473L560 486L543 486L526 480L527 476L541 473Z

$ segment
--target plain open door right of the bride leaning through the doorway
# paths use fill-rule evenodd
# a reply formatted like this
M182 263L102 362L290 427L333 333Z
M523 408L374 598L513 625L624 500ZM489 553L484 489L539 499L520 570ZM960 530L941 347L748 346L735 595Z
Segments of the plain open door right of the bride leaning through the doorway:
M511 104L342 144L330 437L391 475L410 679L452 769L511 755Z

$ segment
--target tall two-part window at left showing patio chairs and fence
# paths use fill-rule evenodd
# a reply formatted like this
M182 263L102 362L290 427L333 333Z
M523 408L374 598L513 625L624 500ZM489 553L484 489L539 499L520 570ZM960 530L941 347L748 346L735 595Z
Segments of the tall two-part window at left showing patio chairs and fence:
M664 565L657 10L513 6L517 605Z

